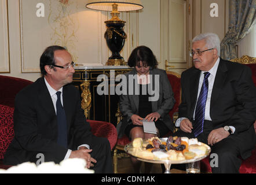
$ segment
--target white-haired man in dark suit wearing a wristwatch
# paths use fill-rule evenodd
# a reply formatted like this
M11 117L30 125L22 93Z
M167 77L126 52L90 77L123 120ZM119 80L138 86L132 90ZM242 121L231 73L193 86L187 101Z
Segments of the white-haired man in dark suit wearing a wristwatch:
M195 66L181 75L180 127L175 135L198 138L217 154L213 173L239 172L255 147L256 88L246 65L222 60L216 34L193 39Z

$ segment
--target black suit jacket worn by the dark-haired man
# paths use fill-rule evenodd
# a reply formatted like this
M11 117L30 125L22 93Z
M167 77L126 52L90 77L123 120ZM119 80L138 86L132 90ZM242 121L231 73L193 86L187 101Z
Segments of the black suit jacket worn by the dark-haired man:
M68 149L90 145L92 132L86 122L78 90L68 84L63 87L63 106L67 117ZM4 162L16 165L35 162L44 154L45 161L62 161L68 149L57 145L57 117L52 98L43 77L21 90L15 99L14 139L6 151Z

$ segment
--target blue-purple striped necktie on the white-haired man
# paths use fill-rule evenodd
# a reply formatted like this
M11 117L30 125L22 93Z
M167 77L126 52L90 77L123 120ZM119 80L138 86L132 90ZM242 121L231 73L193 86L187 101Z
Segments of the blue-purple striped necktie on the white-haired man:
M203 123L204 123L204 113L206 108L206 99L208 94L208 77L210 76L209 72L204 73L204 79L202 88L198 97L198 102L196 103L195 110L195 124L193 126L193 132L195 137L203 132Z

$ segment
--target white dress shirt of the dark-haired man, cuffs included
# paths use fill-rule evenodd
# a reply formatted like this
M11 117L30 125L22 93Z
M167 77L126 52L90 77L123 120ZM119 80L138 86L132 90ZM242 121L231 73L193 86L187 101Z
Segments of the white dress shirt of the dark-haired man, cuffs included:
M45 79L45 78L44 78L44 79ZM52 87L50 86L50 84L47 82L46 79L45 79L45 84L46 84L46 87L47 87L47 89L48 89L48 91L49 91L49 93L50 93L50 97L52 98L54 110L55 110L55 113L56 113L56 115L57 115L57 109L56 109L56 102L57 102L57 94L56 94L56 92L57 92L57 91L54 90L54 88L52 88ZM61 94L60 94L60 101L61 101L61 105L63 106L63 87L61 87L58 91L61 92ZM87 147L87 149L90 149L90 146L89 146L89 145L80 145L80 146L78 146L78 149L79 149L79 147L81 147L81 146L85 146L85 147ZM67 154L65 155L64 160L66 160L67 158L70 158L71 151L72 151L72 150L68 149L68 152L67 152Z

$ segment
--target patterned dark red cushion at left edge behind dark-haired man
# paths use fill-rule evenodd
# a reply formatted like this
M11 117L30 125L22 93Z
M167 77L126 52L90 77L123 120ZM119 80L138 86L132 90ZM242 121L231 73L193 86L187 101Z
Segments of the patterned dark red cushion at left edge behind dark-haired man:
M13 112L14 108L0 105L0 159L3 159L3 155L14 137Z

